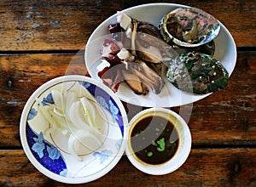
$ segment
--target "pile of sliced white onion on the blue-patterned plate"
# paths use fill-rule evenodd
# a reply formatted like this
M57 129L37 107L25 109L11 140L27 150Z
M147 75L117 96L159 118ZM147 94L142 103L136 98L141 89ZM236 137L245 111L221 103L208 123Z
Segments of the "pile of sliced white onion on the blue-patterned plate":
M96 105L75 91L51 91L53 105L39 105L38 111L49 122L46 133L61 131L68 137L68 149L79 161L81 156L99 149L102 137L95 128Z

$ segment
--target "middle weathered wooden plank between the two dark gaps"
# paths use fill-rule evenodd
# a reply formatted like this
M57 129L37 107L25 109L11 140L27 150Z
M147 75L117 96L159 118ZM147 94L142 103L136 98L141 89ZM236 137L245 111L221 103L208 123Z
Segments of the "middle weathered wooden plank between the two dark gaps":
M255 55L238 53L228 88L195 102L191 116L185 114L194 144L256 144ZM0 146L20 146L20 114L33 91L55 77L86 74L83 55L73 56L0 56Z

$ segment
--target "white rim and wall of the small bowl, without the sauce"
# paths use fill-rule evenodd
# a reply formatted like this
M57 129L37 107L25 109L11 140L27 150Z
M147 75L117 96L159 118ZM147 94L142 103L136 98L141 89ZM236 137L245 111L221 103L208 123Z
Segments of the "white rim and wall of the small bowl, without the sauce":
M146 137L146 139L150 138L149 144L148 143L143 144L142 139L140 139L140 141L134 140L133 141L134 143L132 143L132 140L131 140L137 136L140 136L140 133L137 133L136 136L131 135L131 134L134 134L132 132L135 129L135 127L137 127L138 122L141 122L143 119L150 117L150 116L154 116L154 117L160 116L160 117L166 119L166 121L172 122L173 126L176 129L177 136L179 139L178 144L177 144L177 150L176 150L174 156L172 156L170 159L168 159L167 161L164 161L162 163L154 163L154 164L148 163L148 161L140 159L136 154L136 152L140 151L140 150L143 150L143 152L148 151L147 150L148 148L146 148L146 149L144 149L144 148L147 147L153 141L154 141L155 150L156 149L161 150L162 148L164 148L164 147L161 147L160 143L157 141L157 139L161 138L160 134L159 134L159 137L152 138L153 135L151 135L152 133L150 133L150 135L148 135ZM147 130L148 130L148 132L151 131L151 130L149 130L149 128L150 128L149 126L155 127L155 125L156 125L156 123L154 123L153 121L150 122L148 127L146 127L145 130L143 130L143 133L147 133ZM172 131L172 134L174 134L173 131ZM171 135L171 137L172 137L172 135ZM135 145L132 145L132 144L137 144L136 145L137 149L139 147L139 144L143 144L143 148L140 150L135 150L136 149L136 148L134 148ZM167 147L167 142L166 142L166 147ZM187 158L189 156L190 149L191 149L191 134L189 131L189 127L187 126L186 122L183 121L183 118L181 116L177 115L177 113L175 113L174 111L170 111L170 110L167 110L164 108L150 108L145 111L139 112L136 116L134 116L131 119L125 153L128 156L131 163L135 167L137 167L137 169L142 171L143 173L148 173L148 174L152 174L152 175L163 175L163 174L174 172L175 170L177 170L178 167L181 167L183 165L183 163L187 160ZM150 152L148 152L148 153L150 153ZM154 153L153 153L153 155L154 155ZM148 156L152 156L152 152ZM154 157L154 162L158 162L158 159L160 159L160 158Z

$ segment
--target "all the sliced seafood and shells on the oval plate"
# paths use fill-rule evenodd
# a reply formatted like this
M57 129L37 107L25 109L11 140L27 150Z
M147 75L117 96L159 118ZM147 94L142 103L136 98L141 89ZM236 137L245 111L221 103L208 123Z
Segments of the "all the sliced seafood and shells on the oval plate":
M113 91L125 81L135 94L149 90L160 94L165 76L177 88L194 94L216 92L227 85L228 72L211 56L218 20L199 8L174 9L160 20L159 29L119 12L117 23L108 28L113 40L104 41L102 57L107 66L99 75ZM167 70L164 77L163 70ZM185 77L183 71L189 75Z

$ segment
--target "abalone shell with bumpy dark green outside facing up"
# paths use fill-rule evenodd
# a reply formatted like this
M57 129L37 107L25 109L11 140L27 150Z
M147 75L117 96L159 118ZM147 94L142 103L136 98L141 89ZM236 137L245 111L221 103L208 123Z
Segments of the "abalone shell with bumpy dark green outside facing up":
M212 56L189 52L172 60L166 78L183 91L207 94L225 88L229 73Z

